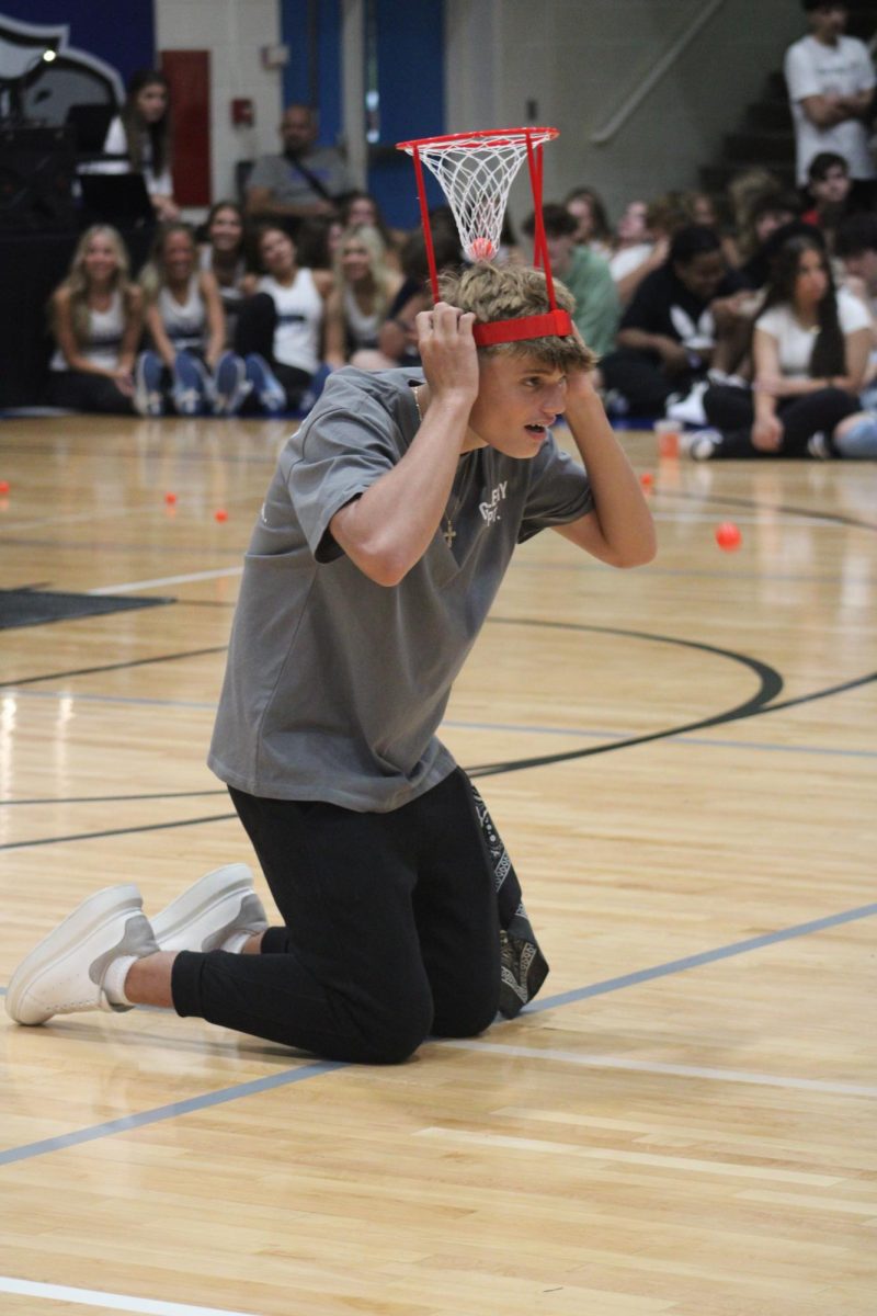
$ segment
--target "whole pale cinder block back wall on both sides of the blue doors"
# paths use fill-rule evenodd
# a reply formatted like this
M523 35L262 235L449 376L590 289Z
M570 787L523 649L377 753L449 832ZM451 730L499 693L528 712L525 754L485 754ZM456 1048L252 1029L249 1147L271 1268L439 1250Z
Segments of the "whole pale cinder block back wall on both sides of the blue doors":
M364 0L343 0L354 32ZM398 0L412 3L412 0ZM617 217L627 200L694 187L726 132L738 126L785 47L805 30L798 0L722 0L706 26L647 101L605 146L590 138L711 0L446 0L447 132L554 124L546 150L546 199L596 187ZM277 150L281 71L262 67L260 47L280 41L280 0L155 0L159 50L212 55L214 197L233 195L234 164ZM348 39L348 58L362 43ZM347 76L348 87L358 78ZM255 128L233 128L230 101L250 96ZM348 133L358 107L346 107ZM351 159L358 159L350 143ZM359 153L362 154L362 153ZM530 209L523 180L511 193L517 221Z

